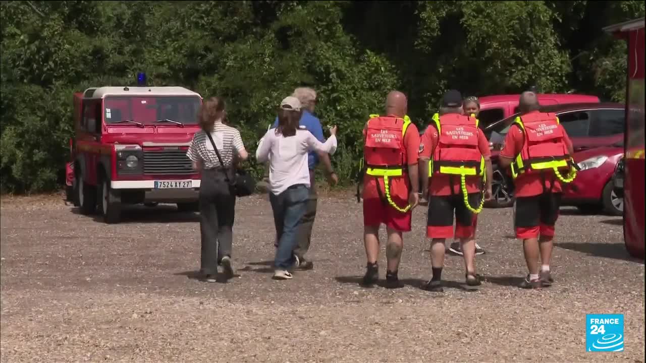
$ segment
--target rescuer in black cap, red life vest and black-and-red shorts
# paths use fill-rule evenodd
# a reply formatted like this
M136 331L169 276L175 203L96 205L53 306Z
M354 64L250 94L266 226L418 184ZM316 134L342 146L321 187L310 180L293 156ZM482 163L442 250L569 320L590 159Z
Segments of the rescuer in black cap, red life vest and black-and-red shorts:
M440 112L422 135L419 150L422 191L429 194L426 235L432 238L433 275L424 289L443 291L445 243L453 237L462 245L466 284L480 285L475 275L474 233L477 213L484 198L491 196L491 152L477 119L463 114L460 92L448 90L444 94Z

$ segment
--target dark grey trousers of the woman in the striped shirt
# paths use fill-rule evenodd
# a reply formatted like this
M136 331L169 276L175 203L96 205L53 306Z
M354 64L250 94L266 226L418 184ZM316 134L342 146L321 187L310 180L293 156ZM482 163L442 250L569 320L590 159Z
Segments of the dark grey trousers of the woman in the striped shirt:
M236 196L231 194L222 169L202 171L200 185L201 269L205 275L218 273L222 257L231 256Z

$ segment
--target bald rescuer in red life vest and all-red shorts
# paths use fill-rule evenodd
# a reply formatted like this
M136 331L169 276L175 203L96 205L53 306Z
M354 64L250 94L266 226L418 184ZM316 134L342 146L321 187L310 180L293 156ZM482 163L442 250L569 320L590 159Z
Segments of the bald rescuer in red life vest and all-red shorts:
M364 245L368 265L364 285L379 278L379 226L386 225L388 287L401 287L397 271L401 259L402 232L411 229L411 213L419 202L417 152L419 131L410 121L406 96L393 91L386 98L386 116L371 115L364 128L364 176L362 192Z

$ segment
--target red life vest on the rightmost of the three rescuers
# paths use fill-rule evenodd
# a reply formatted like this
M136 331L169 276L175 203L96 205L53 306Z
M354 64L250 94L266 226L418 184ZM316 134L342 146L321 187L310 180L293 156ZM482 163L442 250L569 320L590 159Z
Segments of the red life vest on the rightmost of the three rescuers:
M523 130L523 149L516 157L517 172L553 172L554 168L569 167L570 160L556 114L532 112L516 119Z

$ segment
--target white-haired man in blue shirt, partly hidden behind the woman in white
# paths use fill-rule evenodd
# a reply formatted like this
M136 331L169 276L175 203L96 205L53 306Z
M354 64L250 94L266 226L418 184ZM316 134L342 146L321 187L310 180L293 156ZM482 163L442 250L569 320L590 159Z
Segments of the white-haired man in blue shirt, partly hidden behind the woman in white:
M317 103L317 92L309 87L298 87L294 90L292 96L298 98L301 103L301 110L303 114L299 121L300 129L308 130L315 136L315 138L317 138L318 141L325 142L326 140L323 136L323 127L321 126L320 119L318 119L313 114ZM277 126L278 118L276 118L273 127ZM297 269L302 270L309 270L314 267L311 261L306 260L305 254L309 250L309 244L311 243L312 237L312 227L314 226L314 220L317 215L318 196L314 180L314 171L319 161L323 161L323 165L328 175L329 185L335 185L339 181L337 174L335 174L334 169L332 169L332 163L329 160L329 154L327 154L326 152L309 152L309 155L307 156L307 163L309 165L309 183L311 187L309 188L307 211L298 223L298 244L294 249L294 255L297 261L296 267Z

